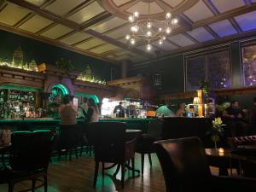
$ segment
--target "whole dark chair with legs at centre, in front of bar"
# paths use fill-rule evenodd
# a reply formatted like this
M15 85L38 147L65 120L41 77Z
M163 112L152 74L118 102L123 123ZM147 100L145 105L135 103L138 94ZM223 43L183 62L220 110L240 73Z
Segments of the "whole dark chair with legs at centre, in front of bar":
M95 148L94 187L96 187L100 162L102 162L102 177L104 177L104 163L113 163L121 166L122 188L124 188L125 183L125 162L128 160L131 160L132 176L134 177L135 140L126 141L125 131L126 125L121 122L97 122L89 125L88 139Z

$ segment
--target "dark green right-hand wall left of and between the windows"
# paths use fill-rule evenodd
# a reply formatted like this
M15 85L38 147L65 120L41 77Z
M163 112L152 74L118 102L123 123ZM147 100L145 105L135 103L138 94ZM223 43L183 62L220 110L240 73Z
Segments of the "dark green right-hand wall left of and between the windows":
M230 69L231 69L231 86L240 88L243 86L243 73L241 66L241 48L240 43L230 43ZM162 75L162 89L160 94L180 93L184 91L184 66L183 54L170 55L168 58L160 61L151 61L142 63L131 68L129 75L134 76L142 74L152 79L154 73Z

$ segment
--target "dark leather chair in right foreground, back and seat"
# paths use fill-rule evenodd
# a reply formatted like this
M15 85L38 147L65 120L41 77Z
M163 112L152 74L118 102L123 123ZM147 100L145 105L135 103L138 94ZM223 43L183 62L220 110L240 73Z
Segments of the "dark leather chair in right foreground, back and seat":
M159 141L155 149L167 192L256 191L256 179L213 176L198 137Z

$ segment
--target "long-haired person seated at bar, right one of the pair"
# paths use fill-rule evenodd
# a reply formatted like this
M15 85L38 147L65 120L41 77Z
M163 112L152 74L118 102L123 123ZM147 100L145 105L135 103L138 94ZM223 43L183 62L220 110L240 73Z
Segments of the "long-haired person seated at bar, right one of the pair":
M98 122L100 111L96 105L96 102L92 98L89 98L87 101L87 106L88 106L87 112L85 112L84 110L84 117L85 117L84 123Z

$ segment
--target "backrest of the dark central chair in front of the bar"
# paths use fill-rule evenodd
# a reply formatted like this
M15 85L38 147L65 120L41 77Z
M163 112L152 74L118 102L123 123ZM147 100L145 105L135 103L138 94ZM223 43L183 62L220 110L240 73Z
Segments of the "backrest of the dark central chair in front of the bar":
M88 140L95 148L96 161L120 162L125 159L126 124L95 122L88 126Z

